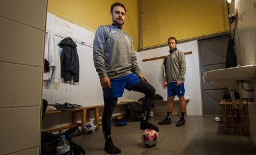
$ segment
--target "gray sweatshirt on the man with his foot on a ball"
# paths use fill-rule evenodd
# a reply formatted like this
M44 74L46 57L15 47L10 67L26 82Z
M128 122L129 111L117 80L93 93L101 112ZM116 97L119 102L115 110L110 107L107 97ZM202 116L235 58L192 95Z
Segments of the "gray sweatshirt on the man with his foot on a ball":
M98 27L93 41L93 60L100 78L141 73L132 38L113 25Z

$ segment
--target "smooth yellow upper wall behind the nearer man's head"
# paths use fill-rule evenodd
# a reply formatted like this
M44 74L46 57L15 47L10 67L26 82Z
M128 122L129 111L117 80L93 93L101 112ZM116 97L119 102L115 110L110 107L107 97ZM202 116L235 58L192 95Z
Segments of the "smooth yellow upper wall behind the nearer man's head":
M87 30L96 31L99 25L112 23L110 6L115 0L48 0L48 12L73 22ZM132 36L134 49L139 49L139 1L119 0L126 6L127 15L123 30Z

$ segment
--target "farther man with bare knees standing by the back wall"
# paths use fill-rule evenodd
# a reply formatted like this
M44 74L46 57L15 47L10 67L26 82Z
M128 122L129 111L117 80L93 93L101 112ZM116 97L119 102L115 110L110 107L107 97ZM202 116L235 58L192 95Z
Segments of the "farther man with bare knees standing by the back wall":
M177 49L177 40L174 37L168 39L168 46L170 54L164 59L164 82L163 87L168 86L168 112L166 118L160 122L159 125L171 124L171 112L173 111L174 96L179 97L181 102L181 118L176 126L179 127L185 124L184 114L186 112L186 100L184 98L185 88L185 72L186 60L182 51Z

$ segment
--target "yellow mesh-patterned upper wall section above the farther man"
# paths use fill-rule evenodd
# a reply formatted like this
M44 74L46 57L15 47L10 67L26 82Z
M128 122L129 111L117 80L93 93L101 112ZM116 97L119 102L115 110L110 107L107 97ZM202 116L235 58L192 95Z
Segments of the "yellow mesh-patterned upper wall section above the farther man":
M229 31L226 0L142 0L142 49Z

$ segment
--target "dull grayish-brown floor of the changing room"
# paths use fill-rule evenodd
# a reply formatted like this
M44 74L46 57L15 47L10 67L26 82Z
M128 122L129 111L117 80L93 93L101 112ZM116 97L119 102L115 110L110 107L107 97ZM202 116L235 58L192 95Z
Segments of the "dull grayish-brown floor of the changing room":
M150 122L156 123L163 116L156 116ZM256 154L256 146L249 136L242 136L238 130L229 130L224 135L219 123L213 117L187 116L186 124L176 127L179 117L172 117L171 125L159 125L160 139L155 147L143 145L139 130L139 122L129 122L125 127L112 127L114 144L122 151L121 154ZM74 138L87 155L107 154L104 151L105 141L101 130L90 135Z

